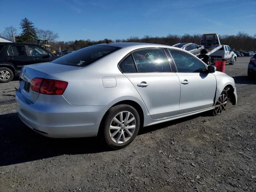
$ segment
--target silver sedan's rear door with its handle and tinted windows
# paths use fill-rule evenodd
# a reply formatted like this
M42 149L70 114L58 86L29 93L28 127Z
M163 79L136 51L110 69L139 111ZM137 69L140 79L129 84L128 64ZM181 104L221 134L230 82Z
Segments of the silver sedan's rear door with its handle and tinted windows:
M133 70L129 70L131 66ZM136 50L119 64L119 68L132 82L153 119L179 114L180 81L171 72L163 48Z

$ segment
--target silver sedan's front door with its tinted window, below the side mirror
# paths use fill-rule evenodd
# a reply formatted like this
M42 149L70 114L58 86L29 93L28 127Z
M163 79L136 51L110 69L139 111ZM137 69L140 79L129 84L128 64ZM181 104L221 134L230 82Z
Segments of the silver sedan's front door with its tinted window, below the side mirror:
M169 49L180 79L180 114L210 108L214 104L216 77L196 56Z

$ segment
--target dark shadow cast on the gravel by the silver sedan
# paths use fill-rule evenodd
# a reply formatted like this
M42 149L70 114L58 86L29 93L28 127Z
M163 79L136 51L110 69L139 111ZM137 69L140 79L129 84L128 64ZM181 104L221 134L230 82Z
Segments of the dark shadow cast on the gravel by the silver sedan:
M206 113L142 128L145 134L191 120ZM30 130L18 118L17 113L0 115L0 166L40 160L63 154L90 154L109 151L98 138L54 139Z

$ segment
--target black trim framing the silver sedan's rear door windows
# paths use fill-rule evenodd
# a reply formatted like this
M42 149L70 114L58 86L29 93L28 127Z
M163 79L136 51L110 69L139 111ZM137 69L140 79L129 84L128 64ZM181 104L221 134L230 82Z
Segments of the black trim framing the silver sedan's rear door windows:
M167 59L167 61L168 61L168 64L169 64L169 67L170 67L170 72L139 72L139 71L138 71L137 63L136 63L136 61L135 61L134 56L132 55L132 53L135 52L135 51L138 51L138 50L143 50L143 49L162 49L162 50L164 51L164 54L165 54L166 59ZM118 69L120 70L120 68L119 68L120 63L121 63L127 56L129 56L129 55L131 54L131 55L132 55L133 62L134 62L135 67L136 67L136 72L134 72L134 73L172 73L172 67L171 67L171 65L170 65L170 61L168 60L168 56L167 56L167 54L166 54L166 52L165 52L164 49L165 49L165 47L144 47L144 48L138 48L138 49L132 50L131 52L129 52L128 54L126 54L126 56L124 56L124 58L122 58L122 59L118 62L118 64L117 64L117 65L118 65ZM122 72L122 70L120 70L120 72L121 72L122 74L134 74L134 73L124 73L124 72Z

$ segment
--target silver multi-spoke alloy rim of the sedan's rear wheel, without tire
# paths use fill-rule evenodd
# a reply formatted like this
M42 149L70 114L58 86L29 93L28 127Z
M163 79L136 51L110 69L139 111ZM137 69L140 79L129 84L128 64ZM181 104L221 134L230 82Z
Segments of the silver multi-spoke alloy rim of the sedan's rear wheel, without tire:
M119 112L114 116L109 127L109 136L117 144L130 140L136 128L134 115L128 111Z

